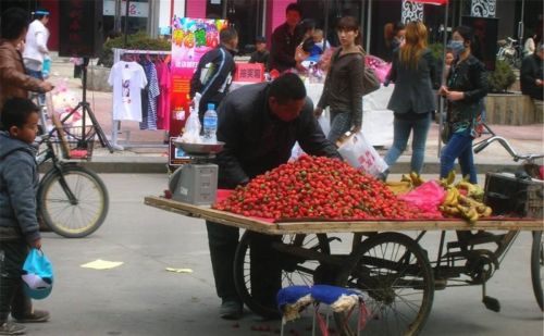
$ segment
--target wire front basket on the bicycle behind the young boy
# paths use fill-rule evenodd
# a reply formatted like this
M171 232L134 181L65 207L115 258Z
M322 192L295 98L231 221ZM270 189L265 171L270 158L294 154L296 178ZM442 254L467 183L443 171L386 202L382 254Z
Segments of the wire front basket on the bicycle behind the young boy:
M95 148L96 126L85 126L85 138L83 137L83 126L64 126L65 142L59 137L54 144L65 160L87 160L92 158Z

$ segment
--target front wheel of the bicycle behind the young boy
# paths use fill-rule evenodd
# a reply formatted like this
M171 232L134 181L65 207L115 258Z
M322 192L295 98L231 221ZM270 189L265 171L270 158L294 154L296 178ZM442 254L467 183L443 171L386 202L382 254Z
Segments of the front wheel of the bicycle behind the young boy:
M38 210L46 224L66 238L83 238L102 225L110 199L103 182L83 166L65 165L41 182ZM64 184L65 182L65 184ZM70 199L70 192L74 199Z

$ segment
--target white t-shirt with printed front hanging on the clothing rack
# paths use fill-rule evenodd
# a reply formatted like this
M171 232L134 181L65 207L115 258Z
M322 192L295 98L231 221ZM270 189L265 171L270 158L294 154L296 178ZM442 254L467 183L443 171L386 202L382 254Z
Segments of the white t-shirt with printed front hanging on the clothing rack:
M111 69L108 83L113 86L113 120L141 122L141 89L147 85L144 67L120 61Z

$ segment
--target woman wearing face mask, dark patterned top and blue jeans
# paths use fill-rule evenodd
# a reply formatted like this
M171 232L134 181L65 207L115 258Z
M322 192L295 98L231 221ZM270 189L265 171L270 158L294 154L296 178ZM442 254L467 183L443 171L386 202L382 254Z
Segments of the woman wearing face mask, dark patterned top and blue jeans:
M440 95L447 98L447 127L450 138L441 154L441 178L446 178L459 159L462 176L478 183L472 154L472 141L482 133L483 98L487 95L487 75L481 61L480 43L474 30L459 26L454 30L449 48L456 60L447 77L447 87Z

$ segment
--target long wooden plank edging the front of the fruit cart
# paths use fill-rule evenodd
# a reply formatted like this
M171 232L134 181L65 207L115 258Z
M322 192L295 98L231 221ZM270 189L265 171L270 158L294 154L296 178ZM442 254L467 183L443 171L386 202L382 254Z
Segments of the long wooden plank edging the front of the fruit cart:
M478 221L469 224L465 221L413 221L413 222L391 222L391 221L368 221L368 222L292 222L292 223L269 223L237 215L230 212L218 211L210 208L197 207L182 203L180 201L146 197L147 206L162 210L181 213L184 215L200 217L217 223L264 233L268 235L284 234L325 234L325 233L366 233L366 232L400 232L400 231L443 231L443 229L487 229L487 231L543 231L544 221Z

